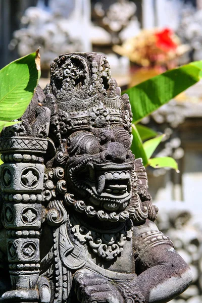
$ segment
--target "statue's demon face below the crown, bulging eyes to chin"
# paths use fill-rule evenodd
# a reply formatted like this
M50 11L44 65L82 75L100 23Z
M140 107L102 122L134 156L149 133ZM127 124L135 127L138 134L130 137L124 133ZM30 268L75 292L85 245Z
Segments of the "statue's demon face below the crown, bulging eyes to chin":
M86 204L123 211L131 199L134 156L131 138L122 127L76 131L67 141L69 190Z

